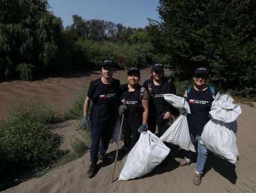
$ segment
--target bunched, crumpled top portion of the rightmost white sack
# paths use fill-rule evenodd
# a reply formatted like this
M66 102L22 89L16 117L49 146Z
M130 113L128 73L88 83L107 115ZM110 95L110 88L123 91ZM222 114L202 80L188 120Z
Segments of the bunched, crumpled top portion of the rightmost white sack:
M212 102L210 110L210 116L213 119L219 120L225 123L231 123L237 119L237 116L241 114L240 105L233 103L234 100L230 94L221 94Z

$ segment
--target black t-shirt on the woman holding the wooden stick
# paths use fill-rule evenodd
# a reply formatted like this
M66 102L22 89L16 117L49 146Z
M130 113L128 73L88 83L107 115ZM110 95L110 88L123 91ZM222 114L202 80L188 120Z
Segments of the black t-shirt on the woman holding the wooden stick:
M140 97L140 88L142 86L138 85L136 90L133 92L129 92L127 88L127 84L121 85L121 99L125 99L125 105L127 106L127 110L125 111L124 117L124 128L129 130L138 130L140 125L143 123L143 112L144 108L142 105L142 100L148 100L147 97L143 95ZM147 91L145 91L147 92Z

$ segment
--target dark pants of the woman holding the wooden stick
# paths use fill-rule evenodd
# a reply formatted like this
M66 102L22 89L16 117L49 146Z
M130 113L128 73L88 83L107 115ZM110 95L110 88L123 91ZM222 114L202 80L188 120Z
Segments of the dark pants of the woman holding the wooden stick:
M138 139L140 139L140 132L138 132L137 130L129 130L128 128L124 128L123 134L124 134L125 148L134 147Z

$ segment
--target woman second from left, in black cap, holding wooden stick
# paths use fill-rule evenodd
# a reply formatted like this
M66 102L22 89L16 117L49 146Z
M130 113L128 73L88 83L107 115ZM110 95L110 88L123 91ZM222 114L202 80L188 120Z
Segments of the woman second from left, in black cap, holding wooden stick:
M120 154L125 154L135 145L140 138L140 132L147 131L149 95L139 81L140 70L134 67L127 72L128 84L121 85L121 99L125 99L125 105L120 107L121 113L124 113L125 144Z

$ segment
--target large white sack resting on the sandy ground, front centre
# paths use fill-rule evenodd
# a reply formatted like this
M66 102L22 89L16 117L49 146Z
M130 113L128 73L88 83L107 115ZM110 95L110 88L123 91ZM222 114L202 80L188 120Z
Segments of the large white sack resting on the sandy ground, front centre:
M152 132L140 134L140 139L129 152L118 180L136 179L152 172L169 154L170 149Z

